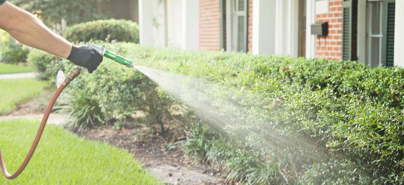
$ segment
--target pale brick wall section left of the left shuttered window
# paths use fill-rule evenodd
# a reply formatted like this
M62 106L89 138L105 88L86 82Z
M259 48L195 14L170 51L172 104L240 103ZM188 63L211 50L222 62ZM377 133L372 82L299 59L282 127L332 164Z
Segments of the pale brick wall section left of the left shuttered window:
M199 49L220 50L219 0L199 0Z

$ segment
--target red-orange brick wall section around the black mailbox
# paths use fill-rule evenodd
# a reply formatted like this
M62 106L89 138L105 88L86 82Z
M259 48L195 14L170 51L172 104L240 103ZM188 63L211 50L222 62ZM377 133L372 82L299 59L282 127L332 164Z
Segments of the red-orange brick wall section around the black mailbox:
M316 38L316 57L341 60L342 58L342 0L329 0L329 12L316 15L316 22L328 22L327 37Z

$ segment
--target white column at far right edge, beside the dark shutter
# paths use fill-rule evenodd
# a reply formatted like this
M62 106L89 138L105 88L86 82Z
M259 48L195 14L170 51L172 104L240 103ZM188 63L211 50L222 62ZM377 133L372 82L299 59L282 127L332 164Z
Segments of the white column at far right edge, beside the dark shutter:
M404 1L395 1L394 65L404 67Z

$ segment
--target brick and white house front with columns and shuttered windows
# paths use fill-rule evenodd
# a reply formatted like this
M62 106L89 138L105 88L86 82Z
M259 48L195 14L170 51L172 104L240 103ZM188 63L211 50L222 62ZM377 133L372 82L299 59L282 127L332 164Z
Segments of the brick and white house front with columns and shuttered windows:
M138 7L145 45L404 66L401 0L138 0ZM326 22L326 36L312 34L313 24Z

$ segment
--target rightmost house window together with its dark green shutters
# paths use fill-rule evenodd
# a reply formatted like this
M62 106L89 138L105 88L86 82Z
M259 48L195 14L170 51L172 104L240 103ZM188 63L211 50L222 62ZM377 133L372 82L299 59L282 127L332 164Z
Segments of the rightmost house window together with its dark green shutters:
M360 19L366 20L366 26L363 26L366 39L364 37L361 43L357 38L358 0L344 0L342 5L342 59L356 60L358 46L364 46L361 53L366 59L361 60L366 64L373 67L393 66L395 0L367 0L366 7L362 4L360 9L366 10L366 14L363 14L366 17Z

